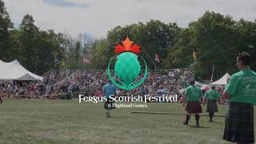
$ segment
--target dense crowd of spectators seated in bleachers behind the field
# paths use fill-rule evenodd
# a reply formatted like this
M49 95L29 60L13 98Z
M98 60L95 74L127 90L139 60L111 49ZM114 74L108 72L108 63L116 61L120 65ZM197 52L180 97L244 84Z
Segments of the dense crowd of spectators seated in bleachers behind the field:
M113 72L112 72L113 73ZM143 72L142 72L143 73ZM134 90L117 89L118 94L178 94L193 78L190 69L150 70L146 81ZM106 70L51 70L42 81L0 81L0 90L6 98L62 98L67 93L102 95L102 86L108 80ZM161 93L162 94L162 93ZM64 97L64 96L63 96Z

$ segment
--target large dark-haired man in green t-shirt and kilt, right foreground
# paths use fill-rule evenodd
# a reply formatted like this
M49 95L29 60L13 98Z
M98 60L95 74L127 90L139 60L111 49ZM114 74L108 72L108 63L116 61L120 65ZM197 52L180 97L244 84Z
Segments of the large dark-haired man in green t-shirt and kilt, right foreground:
M239 54L237 66L240 71L230 77L230 82L222 94L230 102L223 139L237 143L254 143L256 73L250 70L250 54Z

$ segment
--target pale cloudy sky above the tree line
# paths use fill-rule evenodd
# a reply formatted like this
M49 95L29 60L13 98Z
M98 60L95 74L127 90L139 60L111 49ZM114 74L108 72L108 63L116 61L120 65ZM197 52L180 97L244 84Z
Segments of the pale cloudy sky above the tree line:
M67 31L105 37L114 26L158 19L187 26L206 12L213 10L230 14L234 19L254 21L254 0L66 0L89 5L86 8L49 6L43 0L4 0L10 18L20 23L25 14L32 14L36 25L43 30Z

